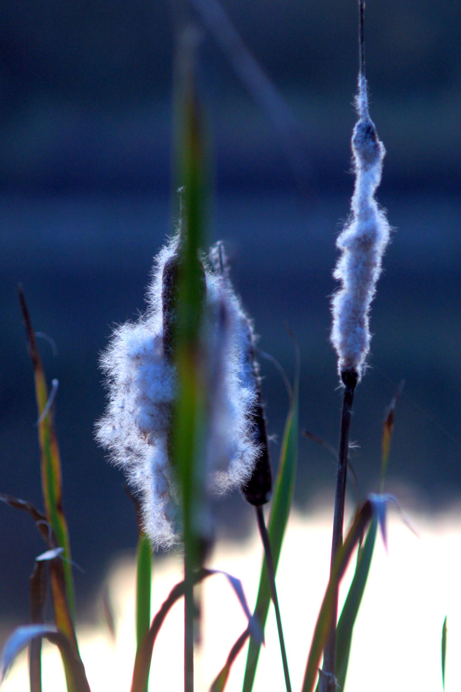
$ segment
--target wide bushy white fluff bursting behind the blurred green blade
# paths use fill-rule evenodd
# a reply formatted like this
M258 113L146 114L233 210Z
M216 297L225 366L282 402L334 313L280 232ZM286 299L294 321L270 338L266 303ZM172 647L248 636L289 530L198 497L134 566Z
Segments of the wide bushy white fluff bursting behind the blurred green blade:
M147 292L147 311L117 327L101 358L108 404L96 437L140 495L144 530L153 547L180 543L180 509L167 438L176 396L175 367L162 343L162 271L178 251L179 235L157 255ZM205 266L207 301L203 372L209 392L207 487L222 492L250 477L257 448L252 442L254 387L245 376L238 330L240 304L222 276ZM223 310L225 321L223 322Z

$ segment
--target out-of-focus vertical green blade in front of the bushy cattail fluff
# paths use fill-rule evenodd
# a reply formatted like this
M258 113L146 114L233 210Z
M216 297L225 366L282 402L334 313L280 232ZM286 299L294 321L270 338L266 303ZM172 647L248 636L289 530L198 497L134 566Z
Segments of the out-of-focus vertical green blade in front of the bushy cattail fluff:
M182 188L173 359L178 390L171 422L169 452L182 506L185 565L185 692L194 690L194 623L200 607L194 602L193 573L203 561L205 468L203 433L207 393L200 336L205 274L199 251L205 244L205 200L209 193L203 115L196 89L198 35L191 26L177 37L175 81L175 176ZM196 632L198 634L198 632Z

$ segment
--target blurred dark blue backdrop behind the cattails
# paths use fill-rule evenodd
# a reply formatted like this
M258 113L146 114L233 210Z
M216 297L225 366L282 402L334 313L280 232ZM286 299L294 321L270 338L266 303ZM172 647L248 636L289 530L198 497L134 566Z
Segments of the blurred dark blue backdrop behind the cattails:
M357 80L355 0L223 0L245 44L289 104L281 136L204 31L200 89L213 152L210 241L224 239L261 349L292 376L301 348L301 427L337 444L340 392L328 342L335 237L348 217ZM5 0L0 25L0 490L41 505L23 283L49 380L79 610L136 526L120 471L93 425L104 410L98 354L111 325L144 309L152 257L173 228L171 100L176 5ZM194 15L195 16L195 15ZM197 24L201 26L197 15ZM369 0L371 116L388 154L379 201L397 230L373 307L370 370L357 391L352 453L361 493L375 489L384 410L399 381L388 487L429 511L461 494L461 6ZM283 129L283 127L282 127ZM293 171L292 154L301 166ZM263 361L270 432L288 401ZM274 464L279 442L272 446ZM332 497L335 465L300 439L296 502ZM234 495L220 533L245 536ZM25 619L42 545L27 516L0 507L0 614Z

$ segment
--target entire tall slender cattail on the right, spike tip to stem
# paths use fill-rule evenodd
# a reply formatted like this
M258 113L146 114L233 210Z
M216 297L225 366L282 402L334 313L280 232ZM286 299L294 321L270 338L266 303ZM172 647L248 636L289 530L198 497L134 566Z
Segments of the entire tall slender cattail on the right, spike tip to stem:
M382 271L382 257L390 229L386 215L379 209L375 192L381 182L386 150L368 111L368 88L365 78L364 0L359 0L359 89L356 98L358 120L352 133L355 167L355 189L352 217L337 239L341 257L335 278L341 282L332 300L331 340L338 355L338 372L344 385L339 460L333 518L331 567L343 542L344 498L348 463L350 420L354 392L366 370L370 351L370 305ZM332 593L332 621L320 676L321 692L335 692L336 628L338 590Z

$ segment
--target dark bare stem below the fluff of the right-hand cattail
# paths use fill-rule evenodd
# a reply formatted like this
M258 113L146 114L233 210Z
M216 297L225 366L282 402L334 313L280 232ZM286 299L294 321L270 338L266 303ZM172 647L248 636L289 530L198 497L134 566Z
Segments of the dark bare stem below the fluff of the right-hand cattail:
M335 495L335 514L333 516L333 537L331 546L331 563L335 562L338 550L343 545L344 501L346 498L346 477L348 470L349 431L352 418L352 403L357 385L357 373L353 370L343 372L344 383L343 409L341 412L341 432L339 434L338 475ZM323 675L321 675L321 692L335 692L335 667L336 667L336 626L338 614L338 590L333 594L332 619L330 634L323 651Z

